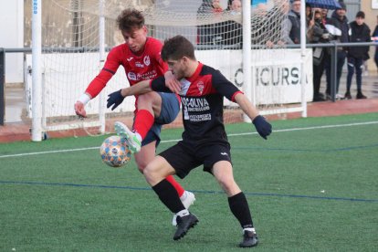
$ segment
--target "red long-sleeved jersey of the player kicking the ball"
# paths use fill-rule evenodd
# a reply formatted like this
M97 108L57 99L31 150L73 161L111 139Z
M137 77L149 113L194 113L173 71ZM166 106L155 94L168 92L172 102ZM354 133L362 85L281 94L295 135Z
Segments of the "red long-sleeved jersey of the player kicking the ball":
M147 37L143 51L138 55L125 43L113 47L100 74L89 83L86 92L92 98L96 97L120 66L124 68L131 86L141 80L163 76L168 70L168 65L161 57L162 47L162 42L153 37Z

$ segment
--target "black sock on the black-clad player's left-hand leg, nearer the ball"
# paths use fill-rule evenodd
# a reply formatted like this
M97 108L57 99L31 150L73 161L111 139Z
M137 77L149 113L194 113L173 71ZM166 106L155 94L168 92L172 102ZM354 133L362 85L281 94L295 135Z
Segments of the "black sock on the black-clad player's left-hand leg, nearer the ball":
M158 194L160 200L172 213L176 214L185 209L173 185L166 179L152 186L152 189Z

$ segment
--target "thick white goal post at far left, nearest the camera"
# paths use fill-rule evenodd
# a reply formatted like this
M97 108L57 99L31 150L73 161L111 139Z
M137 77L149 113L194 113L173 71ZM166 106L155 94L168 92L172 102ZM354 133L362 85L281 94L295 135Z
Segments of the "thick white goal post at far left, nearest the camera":
M42 0L33 0L32 4L32 141L42 141Z

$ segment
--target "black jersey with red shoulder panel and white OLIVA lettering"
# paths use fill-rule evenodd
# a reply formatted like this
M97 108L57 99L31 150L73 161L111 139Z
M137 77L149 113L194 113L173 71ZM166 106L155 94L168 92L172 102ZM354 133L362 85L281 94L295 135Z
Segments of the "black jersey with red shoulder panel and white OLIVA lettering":
M223 100L235 101L241 91L219 70L199 63L193 76L182 79L179 93L183 109L183 140L194 145L227 142L223 121ZM164 78L154 79L151 88L170 92Z

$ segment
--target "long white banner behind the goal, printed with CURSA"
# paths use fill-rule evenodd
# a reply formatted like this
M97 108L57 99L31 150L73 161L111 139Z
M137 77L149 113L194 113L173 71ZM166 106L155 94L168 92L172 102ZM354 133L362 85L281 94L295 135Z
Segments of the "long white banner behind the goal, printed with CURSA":
M216 57L215 57L216 55ZM282 58L279 58L281 56ZM243 89L242 51L241 50L199 50L195 57L202 63L215 69ZM46 117L72 116L72 109L80 94L89 82L100 72L99 55L97 53L79 54L43 54L44 69L43 106ZM54 62L55 64L53 64ZM69 66L61 70L59 67ZM26 55L26 68L32 67L30 54ZM305 67L307 73L306 100L312 100L312 49L306 49ZM256 104L299 103L300 88L300 49L253 50L252 52L252 83L256 85ZM105 97L110 92L128 87L123 68L110 79L104 89ZM31 94L32 77L26 75L26 106L29 117L32 115ZM89 101L87 114L99 113L99 96ZM252 98L249 98L253 100ZM134 110L133 98L124 100L115 112L131 112ZM225 105L233 105L225 99ZM107 110L109 113L110 110Z

